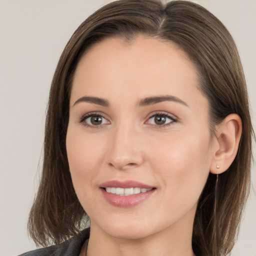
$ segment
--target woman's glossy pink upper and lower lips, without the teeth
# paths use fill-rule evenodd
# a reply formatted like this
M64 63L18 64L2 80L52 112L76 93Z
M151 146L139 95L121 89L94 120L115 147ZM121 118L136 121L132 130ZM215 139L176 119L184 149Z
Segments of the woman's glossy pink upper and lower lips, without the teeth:
M108 203L117 207L135 206L141 203L142 201L144 201L145 199L149 198L156 190L154 186L144 184L135 180L125 180L125 181L109 180L100 184L99 187L105 200ZM138 194L117 195L117 194L106 192L104 189L105 187L121 187L121 188L140 187L140 188L147 188L151 190L144 193L138 193Z

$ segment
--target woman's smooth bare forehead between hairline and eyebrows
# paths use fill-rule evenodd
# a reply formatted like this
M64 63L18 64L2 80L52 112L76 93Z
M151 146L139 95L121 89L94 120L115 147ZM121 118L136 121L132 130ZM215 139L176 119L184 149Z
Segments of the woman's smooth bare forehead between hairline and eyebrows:
M205 101L198 81L193 62L174 43L143 36L128 43L107 38L93 45L79 61L70 101L83 94L107 96L109 100L172 94L188 101L199 96Z

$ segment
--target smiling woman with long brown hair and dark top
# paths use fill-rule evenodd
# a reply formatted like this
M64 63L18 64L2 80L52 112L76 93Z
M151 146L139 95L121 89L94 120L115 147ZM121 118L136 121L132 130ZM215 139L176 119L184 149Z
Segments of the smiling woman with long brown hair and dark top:
M58 245L24 255L226 255L252 134L216 17L185 1L105 5L70 38L50 90L28 228Z

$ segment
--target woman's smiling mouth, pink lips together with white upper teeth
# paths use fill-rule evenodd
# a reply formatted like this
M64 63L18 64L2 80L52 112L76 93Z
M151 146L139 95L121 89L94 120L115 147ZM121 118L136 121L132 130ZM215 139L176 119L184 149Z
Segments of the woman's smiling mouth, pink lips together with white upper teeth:
M156 190L154 186L133 180L111 180L102 183L99 188L106 201L118 207L135 206L149 198Z

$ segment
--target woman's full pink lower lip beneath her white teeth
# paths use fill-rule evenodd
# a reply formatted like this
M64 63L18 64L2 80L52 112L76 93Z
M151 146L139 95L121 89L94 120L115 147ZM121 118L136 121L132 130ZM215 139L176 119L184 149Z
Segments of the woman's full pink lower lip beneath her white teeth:
M118 207L131 207L137 205L152 195L155 189L151 189L144 193L131 195L117 195L106 192L104 188L100 189L104 198L112 205Z

